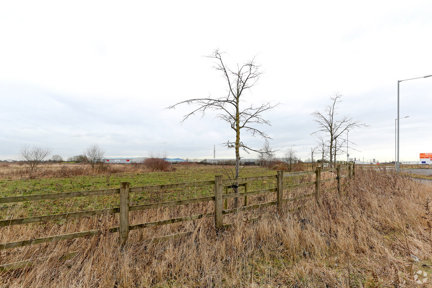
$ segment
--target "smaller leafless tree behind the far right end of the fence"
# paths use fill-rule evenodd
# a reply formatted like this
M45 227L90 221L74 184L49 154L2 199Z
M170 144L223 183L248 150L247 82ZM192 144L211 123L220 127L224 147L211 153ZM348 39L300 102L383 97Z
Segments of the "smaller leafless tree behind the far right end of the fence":
M314 121L318 123L319 130L313 132L312 134L325 132L329 137L330 144L330 168L333 167L333 158L336 163L336 154L337 154L337 139L342 133L346 130L354 130L359 127L367 127L366 124L360 122L360 120L353 120L349 116L342 116L341 118L337 118L337 104L341 102L340 98L342 95L335 94L331 96L332 100L331 104L327 105L324 108L324 112L315 111L311 115L314 118ZM336 150L336 151L335 151Z

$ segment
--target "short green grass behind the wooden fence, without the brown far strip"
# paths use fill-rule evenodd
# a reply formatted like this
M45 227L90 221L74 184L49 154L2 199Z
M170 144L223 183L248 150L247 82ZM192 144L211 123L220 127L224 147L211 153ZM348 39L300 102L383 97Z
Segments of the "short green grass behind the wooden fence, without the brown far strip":
M115 189L120 188L120 182L129 182L130 187L142 187L207 181L214 180L216 174L221 174L221 169L215 166L178 166L175 172L117 173L69 178L0 179L0 197ZM276 171L264 168L245 167L240 176L275 174ZM224 178L228 177L224 176ZM250 186L248 190L269 188L274 185L270 182L256 181L255 186ZM211 196L213 193L213 186L132 193L130 205L205 197ZM0 204L0 219L107 209L118 207L118 198L118 195L106 195ZM13 215L10 211L14 211Z

